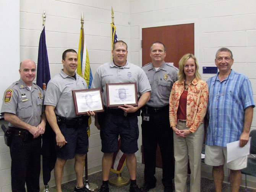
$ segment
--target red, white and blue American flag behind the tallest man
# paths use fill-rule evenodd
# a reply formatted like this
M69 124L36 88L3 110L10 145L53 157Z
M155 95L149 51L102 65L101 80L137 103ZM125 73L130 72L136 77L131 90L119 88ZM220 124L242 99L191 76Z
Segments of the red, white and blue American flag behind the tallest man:
M111 23L111 50L113 50L113 43L117 42L116 27ZM125 154L120 150L121 139L118 139L118 150L113 154L113 162L111 166L111 171L113 173L121 173L123 167L125 166L126 157Z

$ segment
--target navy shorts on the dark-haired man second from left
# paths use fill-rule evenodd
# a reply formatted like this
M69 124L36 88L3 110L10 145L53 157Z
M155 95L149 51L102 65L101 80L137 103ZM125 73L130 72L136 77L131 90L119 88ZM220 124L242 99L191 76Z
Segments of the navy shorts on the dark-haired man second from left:
M59 128L67 143L60 148L55 140L55 151L58 158L65 160L73 159L75 154L84 155L88 152L86 125L79 125L77 128L74 128L67 127L66 124L61 123Z

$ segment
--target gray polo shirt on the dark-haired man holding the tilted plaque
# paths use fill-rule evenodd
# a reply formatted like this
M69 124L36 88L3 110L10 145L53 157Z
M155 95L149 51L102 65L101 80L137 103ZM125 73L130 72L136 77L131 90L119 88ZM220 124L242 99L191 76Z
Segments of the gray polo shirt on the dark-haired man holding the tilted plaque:
M55 106L56 115L66 118L78 117L75 114L72 90L87 89L86 81L77 73L76 80L60 70L48 83L44 104Z

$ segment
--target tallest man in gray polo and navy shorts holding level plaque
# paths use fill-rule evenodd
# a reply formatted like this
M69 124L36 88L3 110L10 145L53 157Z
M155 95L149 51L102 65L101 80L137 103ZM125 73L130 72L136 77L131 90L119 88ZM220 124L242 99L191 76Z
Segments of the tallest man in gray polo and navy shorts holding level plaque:
M136 184L134 154L138 151L137 114L138 109L144 106L150 98L151 87L145 72L140 67L126 61L127 54L127 44L123 41L115 42L112 51L113 61L100 66L92 81L92 88L102 89L105 106L105 112L98 114L98 118L95 118L95 125L100 129L101 150L104 152L103 183L100 192L109 191L109 174L113 153L118 150L118 135L122 141L121 150L126 154L126 165L131 179L130 192L140 191ZM137 94L140 96L138 102L135 99Z

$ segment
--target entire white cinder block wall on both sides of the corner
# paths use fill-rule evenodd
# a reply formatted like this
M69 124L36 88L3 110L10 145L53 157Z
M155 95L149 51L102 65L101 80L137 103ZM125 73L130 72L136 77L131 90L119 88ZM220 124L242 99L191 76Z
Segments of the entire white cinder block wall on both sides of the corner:
M78 50L81 11L84 14L85 40L92 74L99 65L110 61L113 6L118 39L128 43L128 61L141 66L141 28L194 22L195 55L199 60L201 74L203 66L214 66L217 49L227 46L233 51L233 69L250 78L256 93L255 0L16 0L16 3L16 6L20 3L20 60L30 58L37 62L42 13L44 10L46 12L45 33L51 76L62 69L61 56L64 50ZM3 13L7 10L4 9ZM8 19L5 22L9 25ZM202 74L202 77L207 80L211 75ZM255 114L252 128L256 128ZM138 142L140 145L141 138ZM0 192L9 192L10 156L2 136L0 144ZM88 167L89 173L93 173L101 169L102 157L99 131L95 126L91 127L89 147ZM140 150L136 156L141 161ZM75 178L73 162L67 164L64 182ZM210 176L211 167L203 165L203 173ZM256 188L255 178L248 179L252 181L251 186ZM54 184L53 176L49 184Z

